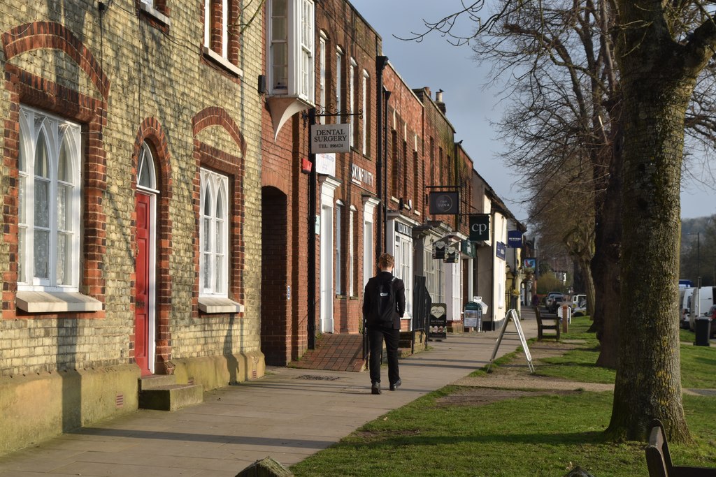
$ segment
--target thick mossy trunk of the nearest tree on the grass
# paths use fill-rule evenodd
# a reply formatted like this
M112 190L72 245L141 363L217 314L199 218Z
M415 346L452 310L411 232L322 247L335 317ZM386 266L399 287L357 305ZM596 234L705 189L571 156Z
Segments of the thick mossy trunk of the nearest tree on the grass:
M620 1L624 94L619 366L607 433L644 441L652 418L687 441L677 311L684 117L694 77L658 3ZM644 16L647 16L645 19ZM667 66L668 65L668 66ZM683 65L682 65L683 66Z

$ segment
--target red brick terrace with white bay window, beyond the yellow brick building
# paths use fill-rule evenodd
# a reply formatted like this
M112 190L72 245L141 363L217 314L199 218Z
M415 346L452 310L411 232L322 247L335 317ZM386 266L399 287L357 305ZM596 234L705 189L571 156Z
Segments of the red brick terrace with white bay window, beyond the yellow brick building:
M433 301L444 300L451 319L460 320L474 285L463 280L474 266L472 247L458 252L465 263L443 264L432 255L436 243L463 250L467 224L428 210L429 191L451 190L469 211L472 161L458 154L445 105L427 88L405 84L382 56L379 34L347 1L272 0L265 17L267 362L300 358L321 333L358 333L362 290L382 251L396 257L395 273L406 284L405 330L412 326L415 275L426 276ZM317 154L306 174L314 107L315 122L350 124L352 136L349 152Z

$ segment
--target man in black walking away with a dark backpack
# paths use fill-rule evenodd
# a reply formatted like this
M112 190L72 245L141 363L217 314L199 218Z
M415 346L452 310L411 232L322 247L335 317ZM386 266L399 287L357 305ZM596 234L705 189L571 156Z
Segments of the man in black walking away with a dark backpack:
M405 283L393 275L395 259L384 253L378 258L378 275L365 285L363 320L370 343L371 393L380 394L380 361L383 340L388 354L388 381L395 391L402 383L398 372L400 318L405 313Z

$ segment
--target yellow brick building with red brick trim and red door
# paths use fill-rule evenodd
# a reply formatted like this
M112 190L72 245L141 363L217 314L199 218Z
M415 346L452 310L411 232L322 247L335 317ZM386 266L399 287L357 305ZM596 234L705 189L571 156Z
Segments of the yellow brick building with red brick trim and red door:
M0 8L0 452L262 375L263 12Z

